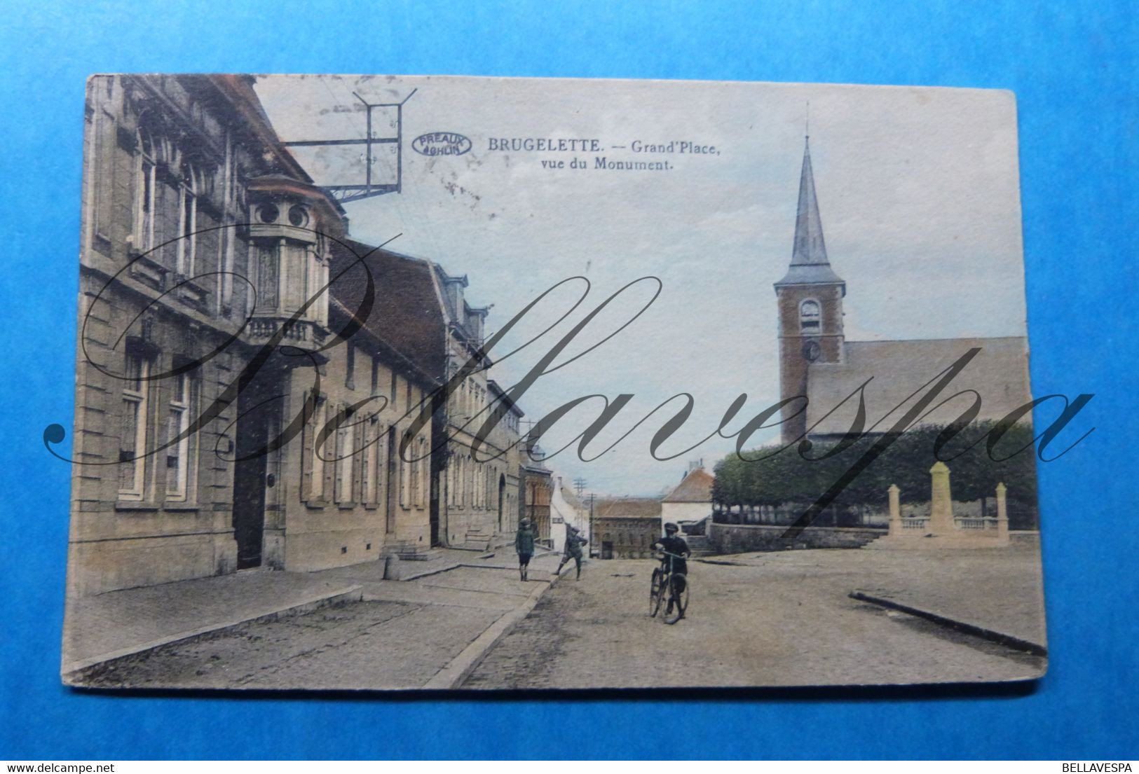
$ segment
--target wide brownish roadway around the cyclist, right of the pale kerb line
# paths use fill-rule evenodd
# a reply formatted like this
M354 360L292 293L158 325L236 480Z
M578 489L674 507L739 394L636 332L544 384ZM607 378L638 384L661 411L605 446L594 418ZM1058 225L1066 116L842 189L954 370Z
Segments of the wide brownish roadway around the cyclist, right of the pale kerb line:
M592 561L580 583L564 579L551 588L464 686L1010 681L1043 670L1042 658L847 596L867 585L900 586L915 596L926 590L943 603L952 599L959 608L995 599L1009 621L1033 618L1039 574L1031 570L1032 551L787 551L726 559L743 563L690 565L689 614L674 626L647 615L650 561ZM978 567L1003 567L1038 591L1025 596L992 586L974 575Z

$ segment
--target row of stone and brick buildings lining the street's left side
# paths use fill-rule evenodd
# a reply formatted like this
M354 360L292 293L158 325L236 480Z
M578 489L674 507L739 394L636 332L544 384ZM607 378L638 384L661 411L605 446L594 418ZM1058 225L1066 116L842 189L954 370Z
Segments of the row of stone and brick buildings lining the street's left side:
M249 80L88 89L68 592L461 541L436 442L478 314L434 264L347 237ZM461 502L514 512L516 461L458 470Z

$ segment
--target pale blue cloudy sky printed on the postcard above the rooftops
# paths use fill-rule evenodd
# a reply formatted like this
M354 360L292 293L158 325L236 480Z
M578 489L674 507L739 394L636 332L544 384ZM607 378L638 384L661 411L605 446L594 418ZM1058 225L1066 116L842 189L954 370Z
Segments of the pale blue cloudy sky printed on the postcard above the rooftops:
M255 89L286 141L362 138L367 114L354 93L369 102L411 94L402 191L346 204L351 233L369 244L399 234L390 248L466 274L467 300L493 304L489 334L558 282L588 279L588 293L580 279L558 286L503 337L491 352L499 384L519 381L632 283L521 400L536 421L574 398L632 395L583 455L574 442L547 462L598 494L656 494L689 461L711 469L735 438L703 439L737 396L747 402L726 434L779 400L772 283L790 261L808 131L827 253L846 281L847 340L1026 335L1011 92L313 75L259 76ZM394 112L372 115L374 137L394 134ZM461 134L470 149L421 155L411 141L431 132ZM600 150L502 151L492 138L583 138ZM634 142L677 145L633 153ZM675 153L680 142L715 150ZM376 151L376 174L394 181L393 151ZM294 153L318 184L363 182L362 146ZM598 157L671 168L600 170ZM571 168L574 158L585 168ZM654 459L650 440L682 401L649 414L682 393L691 415L656 452L672 459ZM571 444L604 405L581 402L542 447ZM747 447L776 435L761 431Z

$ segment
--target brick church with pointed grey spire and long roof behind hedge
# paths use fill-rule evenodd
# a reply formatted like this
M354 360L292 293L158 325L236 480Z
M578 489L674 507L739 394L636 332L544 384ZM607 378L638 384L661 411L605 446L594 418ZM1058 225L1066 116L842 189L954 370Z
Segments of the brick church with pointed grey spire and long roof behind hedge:
M1023 336L850 341L843 331L846 281L830 265L811 168L803 151L790 265L775 283L778 306L781 443L833 440L858 414L862 388L867 433L890 430L954 361L980 349L918 423L948 425L981 401L977 420L999 420L1029 403L1029 340ZM872 298L886 288L860 289ZM970 392L972 390L972 392ZM959 393L965 393L959 395ZM846 400L847 396L853 397ZM952 397L957 395L957 397ZM792 398L805 397L802 401ZM951 398L951 400L947 400ZM845 401L845 402L844 402ZM836 407L837 406L837 407ZM1026 418L1031 419L1031 417Z

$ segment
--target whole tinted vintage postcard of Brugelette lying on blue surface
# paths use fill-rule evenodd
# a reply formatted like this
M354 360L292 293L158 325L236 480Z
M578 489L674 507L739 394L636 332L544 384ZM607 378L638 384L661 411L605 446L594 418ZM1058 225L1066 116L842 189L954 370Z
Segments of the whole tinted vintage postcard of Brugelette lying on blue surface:
M65 683L1043 674L1010 92L97 75L85 108Z

